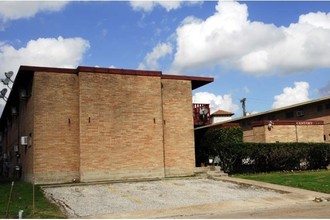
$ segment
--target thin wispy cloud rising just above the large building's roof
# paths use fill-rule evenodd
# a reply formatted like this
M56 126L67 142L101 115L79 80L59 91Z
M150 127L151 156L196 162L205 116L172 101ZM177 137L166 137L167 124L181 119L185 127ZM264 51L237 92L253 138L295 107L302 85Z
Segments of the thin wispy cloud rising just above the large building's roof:
M148 53L144 61L139 64L138 69L158 69L158 60L172 53L172 45L170 43L157 44L152 52Z

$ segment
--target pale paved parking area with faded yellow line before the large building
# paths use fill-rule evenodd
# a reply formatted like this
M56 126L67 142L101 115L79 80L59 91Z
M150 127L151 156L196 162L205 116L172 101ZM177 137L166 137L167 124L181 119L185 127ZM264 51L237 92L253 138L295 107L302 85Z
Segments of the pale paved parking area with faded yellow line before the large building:
M290 207L330 210L329 194L231 177L53 186L44 192L69 218L267 218L261 214L271 210L274 218L281 208L289 218ZM312 215L307 217L324 217Z

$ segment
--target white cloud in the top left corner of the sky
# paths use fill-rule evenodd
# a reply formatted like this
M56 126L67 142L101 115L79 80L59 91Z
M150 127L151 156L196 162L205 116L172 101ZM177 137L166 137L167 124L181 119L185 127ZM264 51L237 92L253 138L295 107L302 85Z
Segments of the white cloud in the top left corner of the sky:
M67 3L65 1L1 1L0 19L8 21L29 18L40 11L57 12Z

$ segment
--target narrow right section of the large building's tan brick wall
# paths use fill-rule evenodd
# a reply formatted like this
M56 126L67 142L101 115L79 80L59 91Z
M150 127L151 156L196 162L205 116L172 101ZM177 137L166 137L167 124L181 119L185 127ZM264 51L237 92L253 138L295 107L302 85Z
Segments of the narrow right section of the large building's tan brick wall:
M162 79L166 177L192 175L195 167L191 82Z

